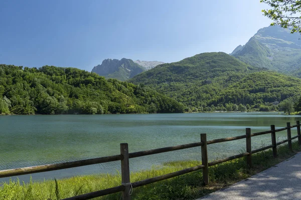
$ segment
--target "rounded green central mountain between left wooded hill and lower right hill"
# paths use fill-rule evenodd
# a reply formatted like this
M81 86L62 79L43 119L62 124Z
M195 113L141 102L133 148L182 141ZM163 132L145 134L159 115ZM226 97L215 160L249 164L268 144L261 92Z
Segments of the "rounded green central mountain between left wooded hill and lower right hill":
M148 85L186 105L199 106L249 73L265 70L224 53L207 52L160 64L129 82Z

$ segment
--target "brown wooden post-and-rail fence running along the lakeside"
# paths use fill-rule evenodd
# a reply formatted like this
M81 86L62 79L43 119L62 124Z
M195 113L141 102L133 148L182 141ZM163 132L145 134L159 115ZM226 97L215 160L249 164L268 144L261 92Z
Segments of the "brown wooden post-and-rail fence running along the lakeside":
M290 129L293 127L297 127L297 135L291 137ZM287 131L287 139L276 142L276 134L275 133L278 131L282 131L282 130ZM268 133L271 133L271 145L252 150L251 137L257 136L257 135L262 135L262 134L268 134ZM219 142L224 142L224 141L232 141L232 140L243 139L243 138L246 138L246 152L208 162L208 152L207 152L208 144L219 143ZM280 145L284 142L287 142L288 148L290 150L292 150L291 140L295 139L295 138L298 138L298 144L301 145L300 122L299 121L296 121L296 125L292 125L292 126L290 126L290 123L287 122L286 127L283 127L280 129L275 129L275 125L271 125L270 130L262 131L262 132L255 132L255 133L251 133L251 129L246 128L246 134L244 134L244 135L235 136L235 137L226 137L226 138L220 138L220 139L213 139L213 140L209 140L209 141L207 141L206 133L202 133L201 141L199 141L199 142L183 144L183 145L178 145L178 146L169 146L169 147L164 147L164 148L156 148L156 149L152 149L152 150L137 151L137 152L132 152L132 153L128 152L127 143L120 143L120 154L119 155L63 162L63 163L57 163L57 164L46 164L46 165L30 166L30 167L24 167L24 168L0 170L0 178L10 177L10 176L14 176L14 175L38 173L38 172L42 172L42 171L52 171L52 170L65 169L65 168L71 168L71 167L77 167L77 166L84 166L84 165L89 165L89 164L97 164L97 163L121 160L121 185L116 186L116 187L107 188L107 189L102 189L99 191L81 194L78 196L65 198L65 200L67 200L67 199L68 200L90 199L90 198L103 196L103 195L107 195L107 194L111 194L111 193L115 193L115 192L119 192L119 191L122 191L122 199L128 200L128 199L130 199L131 187L132 188L139 187L139 186L142 186L145 184L168 179L171 177L175 177L175 176L189 173L192 171L196 171L199 169L203 169L203 184L205 184L205 185L209 184L209 174L208 174L209 166L246 156L247 167L251 168L252 167L252 153L256 153L256 152L259 152L262 150L266 150L268 148L272 148L273 156L276 157L277 156L276 146ZM174 150L185 149L185 148L192 148L192 147L196 147L196 146L201 146L201 151L202 151L201 152L202 153L202 164L201 165L197 165L194 167L186 168L183 170L179 170L176 172L168 173L168 174L153 177L153 178L148 178L145 180L130 182L129 158L151 155L151 154L156 154L156 153L163 153L163 152L174 151Z

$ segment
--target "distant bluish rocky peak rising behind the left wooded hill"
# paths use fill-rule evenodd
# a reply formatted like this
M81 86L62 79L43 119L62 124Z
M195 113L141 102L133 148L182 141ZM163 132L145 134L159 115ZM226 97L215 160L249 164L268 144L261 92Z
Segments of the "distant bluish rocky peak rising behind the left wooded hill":
M137 64L131 59L104 59L101 64L94 66L92 72L95 72L106 78L116 78L118 80L127 80L137 75L146 68Z

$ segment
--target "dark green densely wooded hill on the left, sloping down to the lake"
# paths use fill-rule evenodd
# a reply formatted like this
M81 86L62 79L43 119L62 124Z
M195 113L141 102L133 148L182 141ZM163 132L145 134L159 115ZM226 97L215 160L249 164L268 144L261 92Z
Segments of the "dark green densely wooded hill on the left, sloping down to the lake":
M184 105L143 85L106 80L72 67L0 64L2 114L183 112Z

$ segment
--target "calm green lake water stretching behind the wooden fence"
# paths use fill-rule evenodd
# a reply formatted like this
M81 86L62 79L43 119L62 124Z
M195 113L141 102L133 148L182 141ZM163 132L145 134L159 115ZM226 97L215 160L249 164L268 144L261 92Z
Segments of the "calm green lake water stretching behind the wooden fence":
M278 113L179 113L106 115L10 115L0 116L0 170L102 157L120 153L127 142L129 152L269 130L295 124L298 116ZM286 131L276 133L277 140ZM292 136L296 129L292 129ZM252 137L252 148L270 145L270 134ZM238 154L245 139L211 144L209 159ZM147 169L172 160L201 160L200 147L130 159L130 170ZM120 161L32 174L34 180L120 171ZM15 178L15 177L13 177ZM19 176L27 181L29 175ZM8 178L0 178L1 181Z

